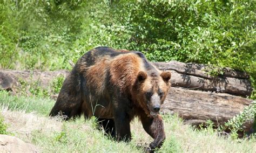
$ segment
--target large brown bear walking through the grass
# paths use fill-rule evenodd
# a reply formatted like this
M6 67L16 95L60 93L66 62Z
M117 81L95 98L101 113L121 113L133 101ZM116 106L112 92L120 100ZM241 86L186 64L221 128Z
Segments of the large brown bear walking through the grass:
M159 110L170 78L170 72L159 71L141 52L97 47L77 61L50 115L96 116L118 141L130 140L130 122L138 116L154 138L150 148L160 148L165 132Z

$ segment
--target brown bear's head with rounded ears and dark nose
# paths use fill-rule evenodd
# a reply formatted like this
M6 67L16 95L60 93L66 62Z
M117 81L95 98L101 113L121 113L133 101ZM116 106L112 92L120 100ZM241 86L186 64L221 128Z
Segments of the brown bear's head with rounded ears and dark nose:
M159 114L167 92L170 88L169 71L140 71L137 74L136 99L148 116Z

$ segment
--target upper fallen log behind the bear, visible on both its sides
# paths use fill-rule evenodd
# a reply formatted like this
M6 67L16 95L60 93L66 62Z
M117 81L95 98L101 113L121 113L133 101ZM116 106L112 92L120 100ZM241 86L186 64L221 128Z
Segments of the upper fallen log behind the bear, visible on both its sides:
M159 69L170 70L172 73L172 87L183 87L187 89L212 91L217 93L228 93L238 96L250 96L252 86L248 74L241 71L235 71L231 68L224 68L224 74L218 77L212 77L207 73L208 67L203 64L185 64L178 61L170 62L152 62ZM57 75L68 75L68 71L39 72L39 71L8 71L2 73L9 74L15 80L22 78L27 82L42 80L42 86L48 86L52 73ZM33 75L33 78L31 78ZM3 75L0 75L0 79ZM2 79L5 79L2 77ZM15 81L17 82L17 81ZM1 80L0 80L1 85ZM3 86L2 86L3 87ZM5 86L6 87L6 86Z

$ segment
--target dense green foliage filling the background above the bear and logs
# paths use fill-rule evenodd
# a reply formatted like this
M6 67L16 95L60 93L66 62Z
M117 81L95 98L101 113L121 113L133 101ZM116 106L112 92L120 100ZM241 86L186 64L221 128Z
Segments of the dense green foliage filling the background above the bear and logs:
M142 51L151 61L240 69L250 73L255 87L255 5L245 0L0 0L0 68L70 69L68 60L110 46Z

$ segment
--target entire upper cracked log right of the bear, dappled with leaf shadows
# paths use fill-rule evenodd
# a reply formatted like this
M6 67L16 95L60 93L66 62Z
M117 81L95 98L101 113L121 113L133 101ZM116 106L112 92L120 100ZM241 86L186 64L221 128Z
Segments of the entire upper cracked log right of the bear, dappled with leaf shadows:
M152 62L159 69L172 72L173 87L183 87L193 90L213 91L239 96L250 96L252 93L251 81L246 72L223 68L223 75L212 77L208 74L210 67L203 64L184 63L178 61Z

